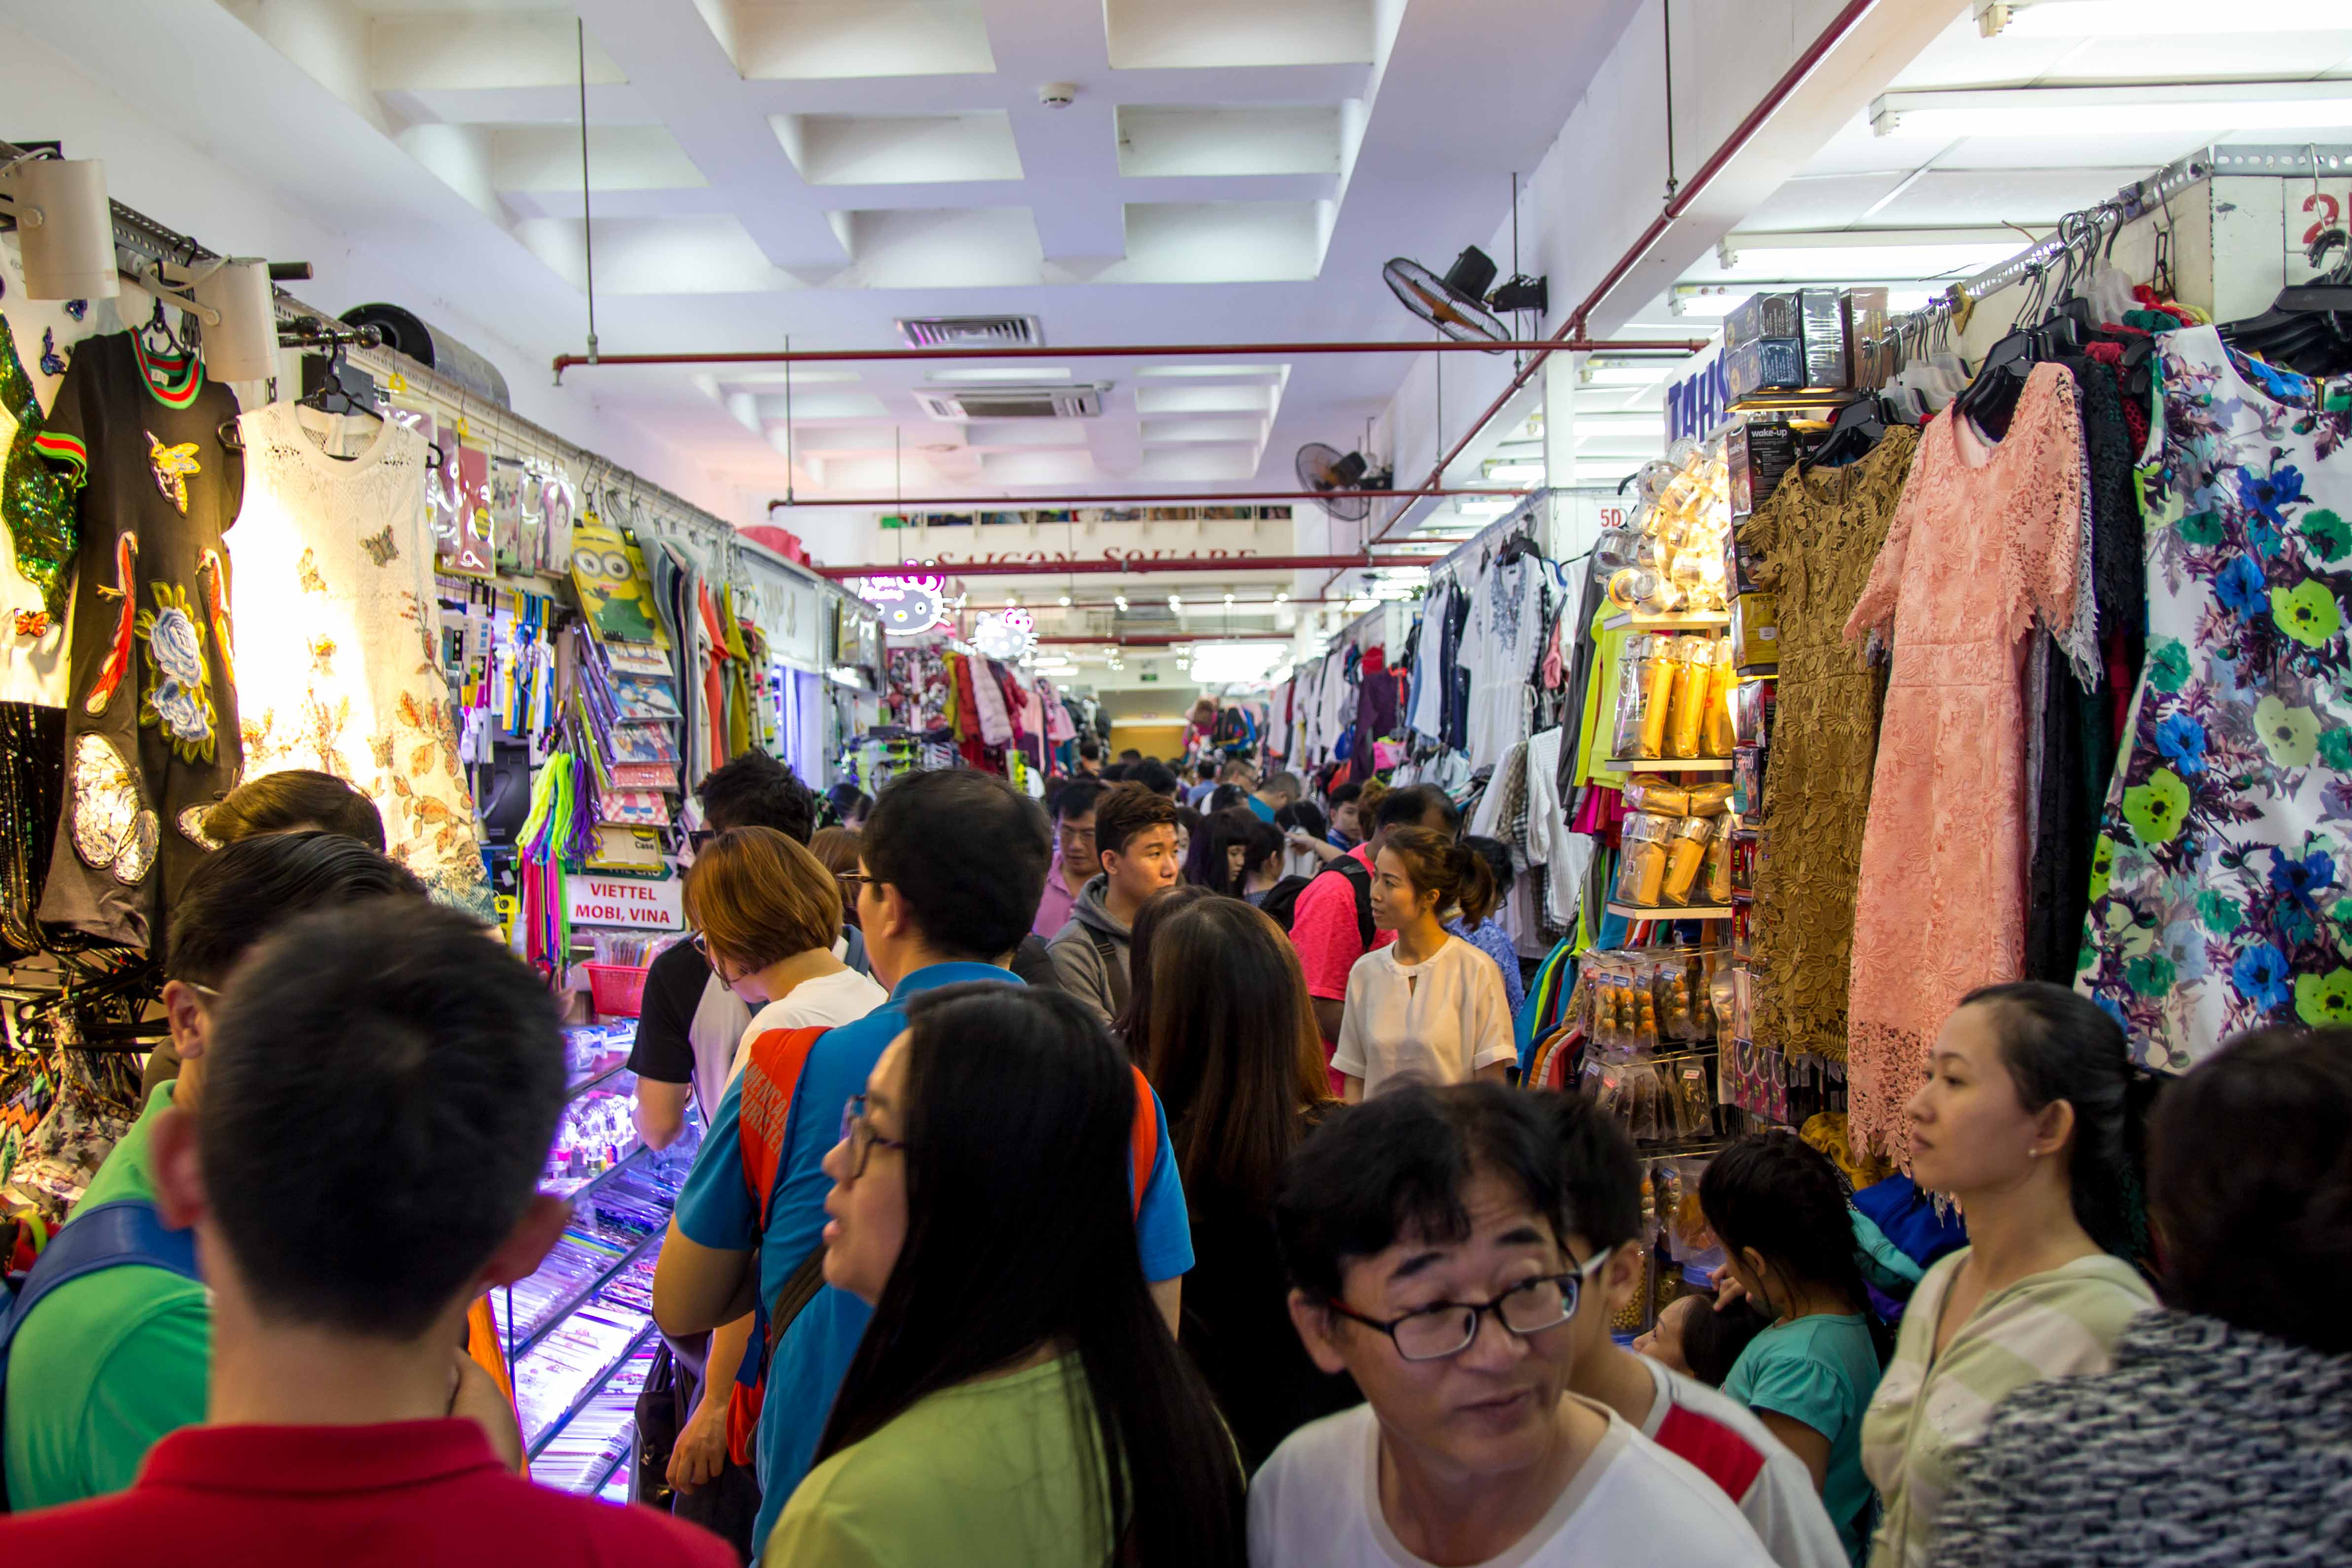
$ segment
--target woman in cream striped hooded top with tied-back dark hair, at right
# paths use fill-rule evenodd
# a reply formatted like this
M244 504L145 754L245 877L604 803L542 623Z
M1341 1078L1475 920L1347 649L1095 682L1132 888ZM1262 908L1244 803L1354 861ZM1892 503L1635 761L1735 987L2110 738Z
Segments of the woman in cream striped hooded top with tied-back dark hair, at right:
M1912 1180L1945 1192L1969 1246L1926 1272L1863 1418L1886 1512L1870 1568L1924 1568L1959 1455L2009 1394L2105 1373L2154 1305L2138 1260L2140 1110L2124 1030L2063 985L1969 992L1905 1105Z

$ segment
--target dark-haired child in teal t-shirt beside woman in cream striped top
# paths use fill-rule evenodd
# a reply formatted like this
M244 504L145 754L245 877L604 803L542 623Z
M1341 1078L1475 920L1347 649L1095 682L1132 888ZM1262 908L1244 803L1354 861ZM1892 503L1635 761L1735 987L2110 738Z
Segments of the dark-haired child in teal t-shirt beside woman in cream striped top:
M1731 1363L1724 1394L1804 1460L1860 1563L1875 1505L1863 1410L1879 1387L1879 1342L1837 1166L1795 1133L1750 1133L1708 1164L1698 1206L1724 1272L1773 1319Z

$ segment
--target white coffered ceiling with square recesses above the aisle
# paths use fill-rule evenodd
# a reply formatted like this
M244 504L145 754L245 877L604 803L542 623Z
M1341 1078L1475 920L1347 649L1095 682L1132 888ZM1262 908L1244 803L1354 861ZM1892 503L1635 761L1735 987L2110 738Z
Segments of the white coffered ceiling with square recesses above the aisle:
M270 71L341 99L325 155L405 155L423 179L379 186L383 216L412 205L456 256L480 252L468 308L548 355L586 339L583 54L604 353L896 348L894 317L983 313L1035 315L1049 346L1414 339L1381 263L1442 270L1486 233L1632 14L579 0L581 47L574 9L527 0L216 2L270 45ZM1075 99L1044 106L1047 82ZM254 141L280 134L252 125ZM452 193L470 223L449 226ZM506 308L496 294L522 280L534 299ZM1291 451L1362 444L1404 367L1049 360L1021 381L1110 383L1103 416L1028 425L924 414L915 388L981 381L971 367L795 369L790 482L804 501L1289 489ZM572 374L739 487L748 512L783 494L781 369Z

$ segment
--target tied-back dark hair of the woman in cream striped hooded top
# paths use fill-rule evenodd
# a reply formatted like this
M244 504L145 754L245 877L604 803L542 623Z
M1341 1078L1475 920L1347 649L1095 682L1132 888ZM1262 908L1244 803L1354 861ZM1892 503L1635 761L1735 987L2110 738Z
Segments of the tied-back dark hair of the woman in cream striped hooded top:
M2074 1107L2067 1197L2074 1222L2124 1262L2147 1258L2147 1110L2154 1079L2136 1074L2124 1025L2089 997L2046 980L1985 985L1959 999L1983 1004L2002 1041L2002 1065L2027 1114L2056 1100ZM2143 1265L2145 1267L2145 1265Z

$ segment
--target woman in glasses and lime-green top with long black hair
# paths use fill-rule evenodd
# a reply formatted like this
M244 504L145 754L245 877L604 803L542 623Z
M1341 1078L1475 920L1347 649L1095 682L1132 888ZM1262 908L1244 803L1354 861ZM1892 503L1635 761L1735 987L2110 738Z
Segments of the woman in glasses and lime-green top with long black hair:
M1070 997L908 1004L826 1157L826 1281L875 1316L769 1568L1242 1561L1232 1441L1136 1255L1148 1093Z

